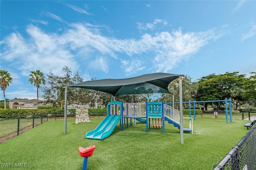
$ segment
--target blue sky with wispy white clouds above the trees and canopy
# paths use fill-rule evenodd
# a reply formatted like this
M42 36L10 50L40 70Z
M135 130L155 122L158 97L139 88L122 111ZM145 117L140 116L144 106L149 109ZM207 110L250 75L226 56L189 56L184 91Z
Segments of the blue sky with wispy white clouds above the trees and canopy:
M65 65L84 81L256 71L256 1L1 0L0 8L7 99L36 99L30 71L62 75Z

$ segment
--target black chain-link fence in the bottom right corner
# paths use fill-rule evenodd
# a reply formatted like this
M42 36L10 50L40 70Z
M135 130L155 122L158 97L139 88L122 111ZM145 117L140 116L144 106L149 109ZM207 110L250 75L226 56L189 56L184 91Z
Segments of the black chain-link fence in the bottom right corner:
M256 170L256 126L214 165L213 170Z

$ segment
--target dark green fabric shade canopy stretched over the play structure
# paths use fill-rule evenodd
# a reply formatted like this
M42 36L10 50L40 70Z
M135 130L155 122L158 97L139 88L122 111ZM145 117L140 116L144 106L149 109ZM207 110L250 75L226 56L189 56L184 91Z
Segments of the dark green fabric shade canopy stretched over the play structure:
M152 73L128 79L84 81L68 87L80 87L110 93L113 96L143 93L171 93L168 85L183 75Z

